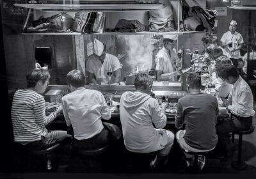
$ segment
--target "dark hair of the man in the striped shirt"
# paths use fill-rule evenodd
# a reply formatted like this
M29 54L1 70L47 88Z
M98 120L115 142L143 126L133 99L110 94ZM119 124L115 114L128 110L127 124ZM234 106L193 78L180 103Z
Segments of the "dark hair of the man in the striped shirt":
M42 81L45 83L47 79L50 79L51 75L49 74L47 68L36 68L30 70L26 76L27 79L27 87L33 88L36 86L38 81Z

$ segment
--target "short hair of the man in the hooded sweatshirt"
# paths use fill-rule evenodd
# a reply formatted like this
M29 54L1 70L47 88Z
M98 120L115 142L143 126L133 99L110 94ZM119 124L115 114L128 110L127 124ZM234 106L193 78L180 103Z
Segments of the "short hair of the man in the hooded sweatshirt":
M139 74L136 74L136 77L134 79L134 87L135 89L147 89L148 86L152 86L153 80L150 75L146 74L145 72L140 72Z

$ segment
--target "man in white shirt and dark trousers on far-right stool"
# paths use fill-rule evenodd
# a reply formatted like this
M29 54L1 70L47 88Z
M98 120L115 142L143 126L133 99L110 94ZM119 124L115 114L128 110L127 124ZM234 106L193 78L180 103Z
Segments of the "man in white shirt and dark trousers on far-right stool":
M233 84L228 100L223 99L225 105L231 113L229 120L224 120L216 126L216 133L219 136L220 146L225 150L225 154L234 152L234 147L229 139L230 132L248 130L252 126L253 95L250 86L239 75L234 65L223 65L218 70L218 75L223 81ZM228 157L228 156L226 156Z

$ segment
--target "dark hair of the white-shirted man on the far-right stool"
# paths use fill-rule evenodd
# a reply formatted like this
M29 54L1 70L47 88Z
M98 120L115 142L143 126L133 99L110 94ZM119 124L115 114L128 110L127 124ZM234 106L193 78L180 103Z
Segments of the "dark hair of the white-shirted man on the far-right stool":
M224 64L218 68L218 76L221 79L228 79L228 77L239 77L239 71L234 65Z

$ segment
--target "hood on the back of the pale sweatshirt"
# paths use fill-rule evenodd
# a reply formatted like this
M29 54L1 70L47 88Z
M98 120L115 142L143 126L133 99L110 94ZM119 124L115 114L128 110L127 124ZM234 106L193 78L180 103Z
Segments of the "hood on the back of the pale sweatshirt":
M138 91L131 92L127 91L125 92L120 100L120 105L123 105L125 109L131 110L134 108L138 108L141 104L143 104L146 100L148 100L150 95L141 93Z

